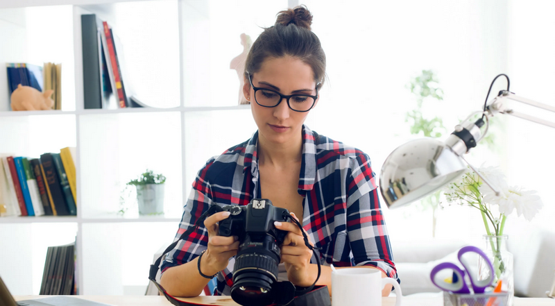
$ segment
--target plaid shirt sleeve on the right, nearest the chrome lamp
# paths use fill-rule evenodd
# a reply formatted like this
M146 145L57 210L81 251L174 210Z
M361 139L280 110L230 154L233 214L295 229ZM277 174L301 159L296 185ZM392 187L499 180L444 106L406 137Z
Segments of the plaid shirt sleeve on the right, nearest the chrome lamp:
M400 282L368 155L361 153L353 158L350 170L347 234L353 260L357 266L375 266Z

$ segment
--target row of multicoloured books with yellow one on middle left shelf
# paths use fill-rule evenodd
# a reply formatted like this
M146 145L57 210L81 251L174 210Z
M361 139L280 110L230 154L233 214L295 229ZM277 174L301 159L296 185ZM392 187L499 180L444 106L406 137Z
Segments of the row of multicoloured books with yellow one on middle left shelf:
M0 216L76 216L75 148L40 158L0 155Z

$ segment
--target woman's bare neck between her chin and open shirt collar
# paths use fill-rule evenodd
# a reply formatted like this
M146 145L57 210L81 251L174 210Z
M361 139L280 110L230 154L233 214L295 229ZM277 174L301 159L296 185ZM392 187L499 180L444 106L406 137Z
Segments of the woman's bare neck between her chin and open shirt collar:
M302 160L302 135L293 137L289 142L276 144L269 142L264 135L258 136L258 162L260 166L290 167L291 162Z

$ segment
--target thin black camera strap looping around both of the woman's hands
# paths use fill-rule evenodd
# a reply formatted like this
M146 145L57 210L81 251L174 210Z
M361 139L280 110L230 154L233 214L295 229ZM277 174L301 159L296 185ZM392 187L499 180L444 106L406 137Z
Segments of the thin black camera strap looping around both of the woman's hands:
M198 219L195 222L195 226L192 227L192 228L189 228L189 230L185 231L179 237L179 239L177 239L176 241L173 241L173 244L170 244L164 250L162 255L160 257L158 257L158 259L154 262L154 264L151 264L151 269L148 273L148 280L151 280L155 284L157 289L160 290L160 292L162 292L162 294L164 294L164 296L166 296L166 298L169 300L169 302L172 303L173 305L188 306L188 305L198 305L198 304L191 304L191 303L184 302L182 300L178 300L177 298L171 296L171 294L168 294L166 289L164 289L164 287L162 287L161 284L156 282L156 274L157 274L158 269L160 267L160 262L162 262L162 258L164 257L164 255L166 255L171 250L173 250L173 248L175 248L177 246L177 244L179 243L180 240L186 239L187 237L189 237L189 235L191 235L192 232L197 230L199 226L203 226L204 221L207 218L207 216L212 216L212 214L215 214L216 212L222 212L222 211L223 210L222 210L221 207L219 207L219 205L210 205L210 208L204 214L202 214L202 215L200 215L200 217L198 217ZM302 296L302 295L307 294L310 291L312 291L312 289L314 289L314 286L316 285L316 282L318 282L318 279L320 279L321 270L322 270L321 269L321 262L320 262L320 253L318 252L318 250L320 250L320 248L316 248L315 246L312 246L310 244L310 241L307 237L307 234L305 233L304 230L302 230L302 226L300 225L299 221L297 221L295 218L293 218L293 216L291 216L291 214L287 214L287 217L291 221L293 221L293 223L295 223L298 226L298 228L300 229L300 231L302 233L302 237L305 240L305 246L307 246L307 248L309 248L310 250L312 250L314 252L314 257L316 257L316 262L318 264L318 275L316 276L316 280L314 280L314 283L311 284L309 287L306 287L304 289L299 289L298 287L296 287L295 296ZM318 291L320 291L320 290L318 290ZM291 302L291 301L289 301L289 302Z

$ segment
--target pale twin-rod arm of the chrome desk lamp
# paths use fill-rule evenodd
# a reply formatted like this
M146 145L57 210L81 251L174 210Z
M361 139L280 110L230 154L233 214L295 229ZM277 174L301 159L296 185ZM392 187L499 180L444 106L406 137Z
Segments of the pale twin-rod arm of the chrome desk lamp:
M549 110L550 112L555 112L555 106L536 102L536 101L524 98L522 96L517 96L516 94L513 94L512 92L509 92L506 90L502 90L501 92L499 92L499 96L496 96L495 99L493 99L492 103L488 105L487 107L488 112L492 116L496 113L510 114L511 116L532 121L532 122L535 122L536 124L543 124L544 126L550 126L552 128L555 128L555 122L540 119L538 117L533 117L533 116L530 116L529 114L523 114L522 112L515 112L514 110L512 110L511 108L508 108L505 105L504 101L506 100L513 100L513 101L534 106L536 108L540 108L542 110Z

